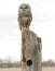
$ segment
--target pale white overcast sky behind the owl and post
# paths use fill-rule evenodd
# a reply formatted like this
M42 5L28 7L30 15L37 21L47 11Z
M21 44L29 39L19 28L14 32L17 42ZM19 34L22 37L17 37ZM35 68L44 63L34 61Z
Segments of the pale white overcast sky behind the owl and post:
M22 33L18 27L18 7L31 7L30 29L42 38L42 60L55 61L55 0L0 0L0 58L20 60Z

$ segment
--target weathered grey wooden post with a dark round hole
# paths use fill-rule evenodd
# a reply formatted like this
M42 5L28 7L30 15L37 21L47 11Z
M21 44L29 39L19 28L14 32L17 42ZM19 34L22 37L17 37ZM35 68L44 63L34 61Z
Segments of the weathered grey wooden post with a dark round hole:
M41 38L32 31L22 27L22 70L42 71Z

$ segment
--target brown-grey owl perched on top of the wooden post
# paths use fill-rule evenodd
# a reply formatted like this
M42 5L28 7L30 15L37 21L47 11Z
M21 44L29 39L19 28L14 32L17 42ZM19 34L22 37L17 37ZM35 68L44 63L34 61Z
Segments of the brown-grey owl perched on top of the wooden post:
M18 25L19 28L22 27L27 27L29 28L29 25L32 21L32 14L31 14L31 9L29 4L20 4L18 8Z

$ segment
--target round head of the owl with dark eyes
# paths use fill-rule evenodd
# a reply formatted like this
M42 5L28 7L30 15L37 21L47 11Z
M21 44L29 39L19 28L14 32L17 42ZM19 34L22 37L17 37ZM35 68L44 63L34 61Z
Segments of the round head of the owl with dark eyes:
M30 5L29 4L20 4L18 9L18 14L27 15L30 14Z

